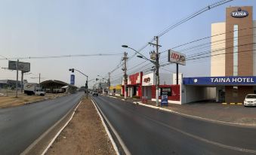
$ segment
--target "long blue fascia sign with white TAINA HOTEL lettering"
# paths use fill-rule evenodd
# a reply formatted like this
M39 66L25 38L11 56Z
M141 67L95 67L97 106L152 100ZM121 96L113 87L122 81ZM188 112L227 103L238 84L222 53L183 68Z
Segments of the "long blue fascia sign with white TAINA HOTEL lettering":
M256 76L183 78L184 85L256 85Z

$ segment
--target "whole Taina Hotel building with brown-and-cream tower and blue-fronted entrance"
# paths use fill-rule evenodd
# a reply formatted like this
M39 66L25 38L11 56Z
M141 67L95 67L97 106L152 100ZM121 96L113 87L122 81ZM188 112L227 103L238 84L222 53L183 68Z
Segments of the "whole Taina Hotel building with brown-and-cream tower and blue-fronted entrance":
M211 77L184 78L184 101L243 102L256 93L256 21L252 7L226 8L226 21L211 24ZM197 93L195 93L197 92Z

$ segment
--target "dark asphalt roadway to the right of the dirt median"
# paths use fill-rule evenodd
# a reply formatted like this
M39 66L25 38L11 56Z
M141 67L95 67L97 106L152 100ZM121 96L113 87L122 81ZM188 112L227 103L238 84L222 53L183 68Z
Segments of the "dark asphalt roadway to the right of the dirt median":
M256 129L94 97L131 154L256 154Z

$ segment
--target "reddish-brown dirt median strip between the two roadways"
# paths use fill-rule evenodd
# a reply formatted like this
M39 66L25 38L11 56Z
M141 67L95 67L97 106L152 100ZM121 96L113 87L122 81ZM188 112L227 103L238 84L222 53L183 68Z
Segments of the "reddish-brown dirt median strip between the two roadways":
M116 154L91 99L82 100L46 154Z

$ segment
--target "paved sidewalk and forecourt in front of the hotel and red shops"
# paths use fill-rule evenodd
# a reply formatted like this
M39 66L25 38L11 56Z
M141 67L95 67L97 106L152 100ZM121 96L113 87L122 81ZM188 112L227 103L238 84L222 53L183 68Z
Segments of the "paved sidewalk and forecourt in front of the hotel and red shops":
M114 96L124 99L122 96ZM140 99L127 98L128 102L138 102L140 105L151 105L155 108L156 102L148 100L142 103ZM160 104L160 102L159 102ZM152 108L153 108L152 107ZM203 120L212 120L223 123L233 123L244 126L256 126L256 107L244 107L243 105L222 105L221 103L196 102L184 105L168 104L162 107L170 112L196 117Z

